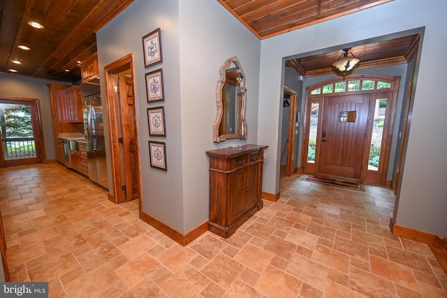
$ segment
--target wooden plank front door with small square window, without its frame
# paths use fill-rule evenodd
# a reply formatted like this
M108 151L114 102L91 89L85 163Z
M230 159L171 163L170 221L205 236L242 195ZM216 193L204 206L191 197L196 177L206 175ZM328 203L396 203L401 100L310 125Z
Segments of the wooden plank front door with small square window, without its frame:
M369 94L325 98L318 174L361 178L368 110Z

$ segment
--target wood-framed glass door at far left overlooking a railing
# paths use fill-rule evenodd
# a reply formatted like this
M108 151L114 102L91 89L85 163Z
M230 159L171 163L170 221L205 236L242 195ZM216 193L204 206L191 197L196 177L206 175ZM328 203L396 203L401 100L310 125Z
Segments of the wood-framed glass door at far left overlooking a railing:
M31 165L45 159L38 99L0 98L0 167Z

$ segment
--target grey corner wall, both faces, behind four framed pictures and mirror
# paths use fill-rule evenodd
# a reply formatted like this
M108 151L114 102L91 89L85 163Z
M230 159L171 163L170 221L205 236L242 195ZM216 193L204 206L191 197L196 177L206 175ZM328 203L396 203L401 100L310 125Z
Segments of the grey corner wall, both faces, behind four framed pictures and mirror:
M145 68L142 36L156 28L161 28L163 63ZM129 53L135 59L142 209L179 232L189 232L209 218L205 151L256 143L261 42L219 2L207 0L135 0L96 38L100 69ZM219 69L233 56L247 77L249 140L214 144ZM145 73L158 68L163 68L166 99L148 104ZM149 137L146 109L159 105L165 107L167 136ZM148 140L166 142L167 172L149 166Z

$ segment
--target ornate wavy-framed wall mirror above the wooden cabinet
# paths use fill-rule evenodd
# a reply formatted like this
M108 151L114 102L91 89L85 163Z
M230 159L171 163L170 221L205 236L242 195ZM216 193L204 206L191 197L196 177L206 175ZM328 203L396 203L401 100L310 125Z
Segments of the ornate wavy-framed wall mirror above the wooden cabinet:
M217 116L213 125L213 142L247 139L247 89L245 75L237 57L231 57L220 70L217 83Z

